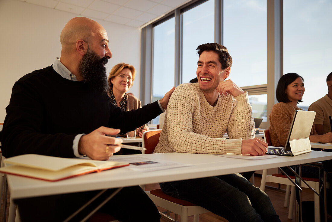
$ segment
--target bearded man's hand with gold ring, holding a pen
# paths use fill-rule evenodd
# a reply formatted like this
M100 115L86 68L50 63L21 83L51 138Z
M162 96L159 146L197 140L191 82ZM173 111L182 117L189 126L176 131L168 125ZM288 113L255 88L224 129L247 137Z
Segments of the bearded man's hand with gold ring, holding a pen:
M78 152L94 160L108 160L113 153L120 150L122 139L108 135L116 135L120 129L101 126L98 129L83 135L78 142Z

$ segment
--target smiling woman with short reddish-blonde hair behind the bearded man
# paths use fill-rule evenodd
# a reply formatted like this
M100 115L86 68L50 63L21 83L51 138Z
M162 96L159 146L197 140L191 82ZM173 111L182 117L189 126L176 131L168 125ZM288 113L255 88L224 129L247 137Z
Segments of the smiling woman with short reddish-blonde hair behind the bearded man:
M108 77L110 86L108 95L111 98L111 102L115 106L120 107L122 111L137 110L142 107L139 99L132 93L127 93L132 87L135 75L136 69L132 65L119 63L113 66ZM144 124L136 129L136 135L142 137L143 132L146 130L149 130L149 128Z

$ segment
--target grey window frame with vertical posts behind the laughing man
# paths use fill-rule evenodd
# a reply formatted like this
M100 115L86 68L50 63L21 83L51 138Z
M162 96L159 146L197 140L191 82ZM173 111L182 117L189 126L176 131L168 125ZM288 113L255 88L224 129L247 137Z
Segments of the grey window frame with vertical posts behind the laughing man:
M141 30L141 75L140 100L142 104L152 101L153 83L153 27L175 17L175 76L174 86L181 83L182 78L182 14L207 0L193 0L172 12L145 26ZM276 99L278 80L283 75L283 0L267 1L267 84L245 86L243 90L248 95L267 94L267 116L270 115ZM214 0L214 42L223 44L223 0ZM261 123L261 128L267 128L267 122Z

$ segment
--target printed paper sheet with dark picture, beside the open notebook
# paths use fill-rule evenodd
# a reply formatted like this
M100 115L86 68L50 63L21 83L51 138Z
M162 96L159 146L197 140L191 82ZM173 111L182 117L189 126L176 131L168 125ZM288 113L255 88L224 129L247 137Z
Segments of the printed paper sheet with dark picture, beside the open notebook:
M134 171L141 171L141 172L149 172L155 170L163 170L163 169L171 169L171 168L178 168L184 166L192 166L191 164L183 164L174 161L168 160L160 160L160 159L152 159L147 157L140 157L140 156L112 156L110 158L111 161L120 161L126 160L129 162L129 166L126 168L134 170Z

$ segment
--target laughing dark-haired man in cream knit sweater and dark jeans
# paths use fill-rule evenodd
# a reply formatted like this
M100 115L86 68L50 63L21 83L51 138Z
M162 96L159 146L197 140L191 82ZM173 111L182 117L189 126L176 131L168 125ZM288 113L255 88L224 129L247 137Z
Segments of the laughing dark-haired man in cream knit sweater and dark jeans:
M207 43L197 50L198 83L175 89L155 153L265 154L268 144L254 138L248 93L225 80L232 66L226 47ZM230 139L222 138L225 131ZM267 194L239 173L165 182L160 187L228 221L280 221Z

